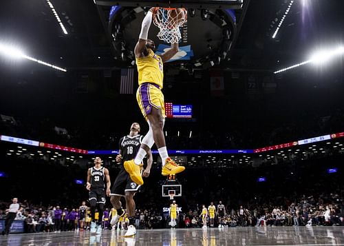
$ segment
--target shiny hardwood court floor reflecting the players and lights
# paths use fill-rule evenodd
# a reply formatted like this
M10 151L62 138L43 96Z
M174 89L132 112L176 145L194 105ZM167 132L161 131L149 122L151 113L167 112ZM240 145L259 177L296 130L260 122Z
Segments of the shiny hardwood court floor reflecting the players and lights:
M229 227L208 229L138 230L125 232L50 232L0 235L0 245L344 245L344 227Z

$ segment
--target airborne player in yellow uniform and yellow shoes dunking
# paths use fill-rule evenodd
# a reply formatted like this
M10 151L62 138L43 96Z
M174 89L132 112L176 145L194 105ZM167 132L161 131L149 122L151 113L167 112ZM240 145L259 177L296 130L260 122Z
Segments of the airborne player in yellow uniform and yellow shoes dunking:
M124 163L125 170L138 185L143 184L140 174L142 159L154 143L158 147L162 159L162 175L178 174L185 170L185 167L176 164L169 158L163 132L165 117L164 95L161 92L164 76L163 63L169 61L178 52L178 43L172 43L171 49L161 54L161 56L154 54L155 44L147 39L152 16L153 8L149 10L142 21L140 37L134 50L136 65L138 66L138 84L140 85L136 92L136 99L149 125L149 132L142 139L136 157Z

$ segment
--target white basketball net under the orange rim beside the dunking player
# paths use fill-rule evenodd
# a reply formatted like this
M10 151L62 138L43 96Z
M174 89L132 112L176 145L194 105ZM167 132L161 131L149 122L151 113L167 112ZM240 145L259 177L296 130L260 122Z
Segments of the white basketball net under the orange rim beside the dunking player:
M175 9L157 8L153 23L160 30L158 38L166 43L178 43L182 39L180 27L186 23L186 18L187 13L184 9L177 11Z

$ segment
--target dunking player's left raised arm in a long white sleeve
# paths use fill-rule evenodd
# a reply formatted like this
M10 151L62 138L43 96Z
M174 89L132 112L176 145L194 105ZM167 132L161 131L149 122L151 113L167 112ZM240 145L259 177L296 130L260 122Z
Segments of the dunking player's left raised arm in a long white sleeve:
M151 19L153 17L153 8L151 8L146 16L144 17L141 25L141 32L138 39L138 43L136 43L134 53L135 57L146 57L148 55L148 50L146 48L146 43L148 39L148 31L151 27Z

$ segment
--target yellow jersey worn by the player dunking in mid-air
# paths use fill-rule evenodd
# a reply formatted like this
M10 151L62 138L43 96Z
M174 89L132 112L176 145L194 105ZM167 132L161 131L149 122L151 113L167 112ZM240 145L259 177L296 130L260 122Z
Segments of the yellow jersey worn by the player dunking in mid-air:
M136 65L138 66L138 84L155 83L162 89L162 81L164 80L164 66L162 59L158 54L154 54L153 50L148 49L147 57L136 57Z

